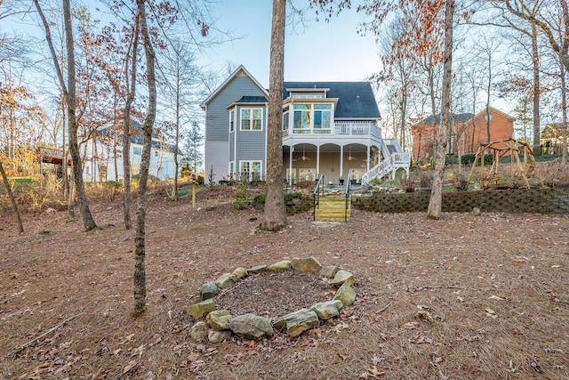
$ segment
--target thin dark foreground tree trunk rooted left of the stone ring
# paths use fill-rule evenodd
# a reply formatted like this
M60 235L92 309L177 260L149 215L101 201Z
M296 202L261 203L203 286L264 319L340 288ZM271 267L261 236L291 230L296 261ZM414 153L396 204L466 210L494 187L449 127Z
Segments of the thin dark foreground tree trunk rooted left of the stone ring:
M146 191L148 182L148 166L150 163L150 149L152 144L152 128L156 118L156 55L150 36L148 34L145 0L136 0L138 7L138 20L140 23L140 35L144 42L147 64L148 82L148 114L144 119L144 145L142 158L140 159L140 175L138 199L136 207L136 232L134 235L134 315L139 316L146 311L146 269L145 269L145 240L144 227L146 222Z

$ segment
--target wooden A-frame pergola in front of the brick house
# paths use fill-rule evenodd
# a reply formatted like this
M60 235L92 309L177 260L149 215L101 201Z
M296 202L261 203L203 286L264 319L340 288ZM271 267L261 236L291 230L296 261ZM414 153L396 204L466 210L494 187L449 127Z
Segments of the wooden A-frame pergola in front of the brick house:
M467 189L468 183L470 183L470 179L472 178L472 174L474 174L474 170L479 159L481 159L481 167L484 167L485 154L493 155L493 163L490 167L490 176L485 182L486 186L490 185L492 178L494 178L495 184L498 184L500 158L509 156L511 158L512 175L517 174L522 178L525 183L525 188L530 188L530 182L527 180L527 174L531 172L533 172L534 176L540 182L540 186L543 187L543 180L541 179L541 175L538 173L535 158L533 158L532 148L525 142L517 141L515 139L506 139L480 144L480 147L477 150L477 155L474 158L474 163L472 164L472 169L470 169ZM520 155L522 158L520 158Z

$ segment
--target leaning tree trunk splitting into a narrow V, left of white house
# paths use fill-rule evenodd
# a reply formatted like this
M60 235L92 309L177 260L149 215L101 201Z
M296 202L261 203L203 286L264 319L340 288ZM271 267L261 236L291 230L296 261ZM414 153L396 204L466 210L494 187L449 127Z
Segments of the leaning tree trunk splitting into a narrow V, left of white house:
M91 211L89 210L89 204L87 203L87 197L84 189L83 182L83 168L81 166L81 157L79 154L79 146L77 144L77 120L76 120L76 84L75 84L75 49L73 42L73 25L71 24L71 9L69 6L69 0L63 0L63 22L65 27L65 39L67 48L67 58L68 58L68 85L65 84L63 79L63 74L58 64L57 54L52 44L52 35L50 31L50 26L45 19L44 12L40 7L38 0L33 0L36 5L37 12L42 19L45 30L45 40L50 48L50 53L52 53L52 60L55 66L55 71L57 77L60 81L60 86L65 94L65 100L67 102L68 108L68 134L69 134L69 154L71 156L73 177L76 186L76 196L77 205L79 206L79 213L81 214L81 219L83 221L83 226L85 230L92 230L97 225L92 219ZM67 162L64 163L67 165Z

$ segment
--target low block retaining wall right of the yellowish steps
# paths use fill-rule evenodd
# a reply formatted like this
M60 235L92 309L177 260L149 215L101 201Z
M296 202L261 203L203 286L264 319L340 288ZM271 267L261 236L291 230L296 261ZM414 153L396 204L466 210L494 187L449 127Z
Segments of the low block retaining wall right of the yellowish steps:
M427 211L430 192L353 198L353 206L378 213ZM470 212L474 207L493 213L569 214L569 188L452 191L443 193L443 212Z

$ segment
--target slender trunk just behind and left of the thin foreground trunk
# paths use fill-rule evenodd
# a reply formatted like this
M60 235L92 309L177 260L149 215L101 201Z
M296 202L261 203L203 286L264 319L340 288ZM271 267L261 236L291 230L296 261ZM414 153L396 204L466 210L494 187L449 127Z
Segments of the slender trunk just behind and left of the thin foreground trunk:
M124 228L130 230L132 228L132 193L131 193L131 109L132 101L136 94L136 71L137 71L137 55L139 50L139 33L140 33L140 14L134 21L134 36L132 38L132 61L131 61L131 79L129 83L128 57L124 61L124 81L126 85L126 101L124 103L124 124L123 124L123 218ZM127 53L128 56L128 53Z

